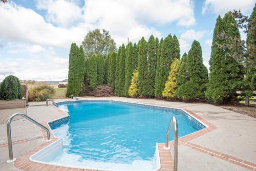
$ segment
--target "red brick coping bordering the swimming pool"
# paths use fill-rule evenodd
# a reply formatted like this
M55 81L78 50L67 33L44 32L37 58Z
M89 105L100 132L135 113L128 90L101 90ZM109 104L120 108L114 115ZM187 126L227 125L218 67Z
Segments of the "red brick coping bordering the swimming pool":
M70 100L70 101L74 101L74 100ZM86 101L86 100L77 100L77 101ZM169 107L169 106L163 106L163 105L154 105L154 104L144 104L144 103L135 103L135 102L127 102L127 101L119 101L119 100L110 100L110 101L118 101L118 102L125 102L125 103L134 103L134 104L143 104L143 105L151 105L151 106L160 106L163 108L172 108L172 109L180 109L183 110L184 112L186 112L188 115L192 116L193 118L195 118L196 120L198 120L200 123L203 123L204 125L207 125L207 127L205 127L202 130L199 130L197 132L188 134L184 137L180 137L179 138L179 145L185 145L189 148L193 148L199 152L214 156L216 158L219 158L221 160L227 161L229 163L232 164L236 164L239 166L242 166L244 168L247 168L249 170L254 170L256 171L256 164L255 163L251 163L248 161L245 161L243 159L239 159L233 156L229 156L226 154L223 154L221 152L217 152L214 151L212 149L191 143L189 141L198 138L204 134L207 134L211 131L214 131L217 129L217 126L215 126L214 124L211 124L210 122L206 121L205 119L203 119L202 117L198 116L197 114L195 114L192 111L187 110L186 108L173 108L173 107ZM52 108L56 109L59 113L61 113L63 116L62 117L58 117L56 119L53 119L51 121L54 120L58 120L64 117L67 117L67 113L63 112L62 110L58 109L56 106L52 105ZM50 128L48 122L51 121L47 121L44 122L42 124L44 124L45 126L47 126L48 128ZM51 129L50 129L51 130ZM51 135L54 137L52 141L50 142L45 142L42 143L41 145L39 145L38 147L32 149L32 151L29 151L28 153L26 153L23 156L20 156L17 158L17 160L14 162L14 166L18 169L21 170L42 170L42 169L53 169L53 170L83 170L83 171L87 171L87 170L91 170L91 169L84 169L84 168L72 168L72 167L62 167L62 166L55 166L55 165L50 165L50 164L42 164L42 163L38 163L38 162L33 162L30 161L30 156L37 153L38 151L40 151L42 148L50 145L51 143L55 142L56 140L58 140L58 138L56 138L52 132L52 130L50 131ZM47 139L47 135L45 133L45 131L43 131L44 134L44 138ZM158 151L159 151L159 156L160 156L160 169L159 170L173 170L173 157L172 157L172 150L166 150L163 148L164 144L163 143L157 143L158 144ZM171 147L173 147L173 141L169 141L169 145ZM171 148L172 149L172 148ZM92 171L92 170L91 170Z

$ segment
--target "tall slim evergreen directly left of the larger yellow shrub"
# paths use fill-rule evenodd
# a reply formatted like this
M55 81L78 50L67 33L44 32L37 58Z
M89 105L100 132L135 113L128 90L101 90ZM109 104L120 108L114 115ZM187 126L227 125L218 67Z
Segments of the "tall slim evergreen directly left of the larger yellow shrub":
M170 64L173 60L172 49L172 36L168 35L163 40L161 55L159 58L159 67L157 68L156 80L155 80L155 96L159 97L162 95L164 84L167 80L168 73L170 70Z

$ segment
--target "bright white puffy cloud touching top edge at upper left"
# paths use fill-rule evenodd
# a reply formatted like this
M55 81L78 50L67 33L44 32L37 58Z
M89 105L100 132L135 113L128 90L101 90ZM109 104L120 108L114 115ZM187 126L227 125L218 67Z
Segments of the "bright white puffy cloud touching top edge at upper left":
M59 26L68 27L82 19L82 9L74 2L37 0L36 7L39 10L47 10L47 21Z

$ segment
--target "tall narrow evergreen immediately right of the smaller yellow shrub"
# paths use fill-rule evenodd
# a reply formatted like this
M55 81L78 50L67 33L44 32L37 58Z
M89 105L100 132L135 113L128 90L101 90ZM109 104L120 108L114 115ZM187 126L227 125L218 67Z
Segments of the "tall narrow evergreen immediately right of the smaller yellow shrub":
M147 42L142 37L138 52L138 87L140 96L149 96L148 91L148 65L147 65Z

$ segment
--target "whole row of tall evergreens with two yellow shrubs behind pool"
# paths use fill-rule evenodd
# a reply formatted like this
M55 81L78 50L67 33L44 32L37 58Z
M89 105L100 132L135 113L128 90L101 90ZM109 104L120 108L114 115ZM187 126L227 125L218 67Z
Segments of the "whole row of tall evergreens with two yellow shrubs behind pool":
M168 35L160 41L153 35L147 41L142 37L138 44L129 42L126 47L122 44L117 52L109 52L105 59L101 54L84 59L83 49L73 43L70 50L67 96L78 95L83 84L90 90L106 84L115 90L116 96L183 100L206 98L211 102L228 102L244 85L244 75L248 71L231 57L230 54L236 52L220 48L228 44L227 40L219 38L222 31L229 37L240 39L236 20L231 13L217 18L209 61L209 78L203 65L200 43L196 40L181 60L176 35ZM255 89L254 71L246 77L248 79L250 76L252 90Z

